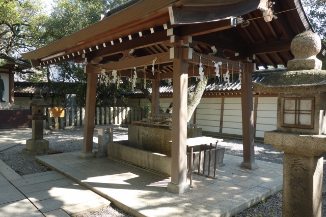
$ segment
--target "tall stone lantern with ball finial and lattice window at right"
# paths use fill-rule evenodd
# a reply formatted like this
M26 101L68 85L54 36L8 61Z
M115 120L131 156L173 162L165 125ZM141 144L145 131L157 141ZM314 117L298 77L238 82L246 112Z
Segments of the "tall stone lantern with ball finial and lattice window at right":
M288 71L254 84L256 92L277 92L277 130L264 143L284 151L282 216L321 216L323 153L326 152L326 71L316 55L317 34L305 31L291 43Z

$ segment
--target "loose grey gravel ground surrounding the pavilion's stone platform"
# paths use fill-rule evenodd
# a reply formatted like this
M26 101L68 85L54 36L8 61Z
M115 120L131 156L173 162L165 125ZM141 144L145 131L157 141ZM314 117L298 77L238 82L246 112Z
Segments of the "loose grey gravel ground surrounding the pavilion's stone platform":
M128 130L126 128L114 129L114 140L128 139ZM83 128L70 130L52 131L44 138L49 140L52 150L62 150L64 152L82 150L83 146ZM242 157L242 141L224 140L219 143L225 147L225 153ZM26 155L22 153L25 145L17 145L10 149L0 152L0 160L5 162L20 175L45 172L49 169L34 160L36 155ZM97 148L97 130L94 131L93 148ZM283 152L276 150L270 145L255 143L255 157L257 160L283 164ZM324 156L326 159L326 155ZM326 160L323 162L323 184L326 183ZM84 213L80 217L129 217L132 216L119 208L104 207L97 211ZM282 191L270 196L266 200L234 215L234 217L260 217L260 216L282 216ZM326 216L326 196L322 197L322 216Z

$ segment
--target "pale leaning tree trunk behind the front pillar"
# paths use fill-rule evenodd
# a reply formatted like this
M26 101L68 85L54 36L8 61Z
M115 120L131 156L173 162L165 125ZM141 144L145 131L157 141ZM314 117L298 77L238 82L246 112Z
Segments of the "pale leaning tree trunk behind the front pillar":
M204 79L202 81L201 80L197 81L194 91L189 94L188 103L187 103L187 122L189 122L189 120L192 118L192 115L196 107L200 103L200 99L203 96L203 92L205 90L206 84L207 84L207 80L206 77L204 76Z

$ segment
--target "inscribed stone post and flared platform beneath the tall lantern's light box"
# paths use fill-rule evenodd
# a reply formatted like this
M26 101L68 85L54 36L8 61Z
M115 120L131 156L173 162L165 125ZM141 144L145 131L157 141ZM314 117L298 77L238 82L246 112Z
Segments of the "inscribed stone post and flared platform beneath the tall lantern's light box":
M321 217L326 136L271 131L264 143L284 151L282 216Z

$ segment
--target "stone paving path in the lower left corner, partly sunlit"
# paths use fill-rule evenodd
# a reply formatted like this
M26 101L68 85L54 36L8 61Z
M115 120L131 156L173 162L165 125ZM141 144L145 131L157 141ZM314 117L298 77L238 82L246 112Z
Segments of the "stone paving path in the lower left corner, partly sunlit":
M20 176L0 161L0 217L69 217L110 203L57 171Z

